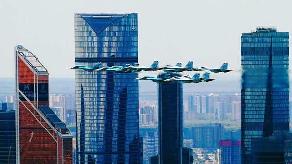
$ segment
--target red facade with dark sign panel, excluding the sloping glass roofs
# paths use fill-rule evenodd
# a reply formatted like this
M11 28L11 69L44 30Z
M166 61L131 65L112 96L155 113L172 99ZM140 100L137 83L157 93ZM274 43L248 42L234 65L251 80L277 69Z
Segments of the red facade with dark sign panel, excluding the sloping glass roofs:
M18 47L17 47L18 48ZM21 46L21 48L23 48ZM25 49L26 50L26 49ZM25 54L17 52L17 80L19 89L28 100L18 94L19 112L19 156L18 164L72 164L72 135L63 138L45 113L38 107L49 106L48 73L37 73ZM29 52L29 51L28 51ZM30 53L30 52L29 52ZM34 55L33 55L34 56ZM24 62L26 60L26 62ZM35 70L35 71L32 71ZM23 104L22 104L23 103ZM32 105L33 106L32 106ZM45 119L43 117L46 117Z

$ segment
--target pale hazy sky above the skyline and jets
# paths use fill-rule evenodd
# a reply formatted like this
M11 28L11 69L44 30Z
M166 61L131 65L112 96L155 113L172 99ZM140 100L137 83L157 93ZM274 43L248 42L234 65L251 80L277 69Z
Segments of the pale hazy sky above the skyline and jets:
M240 78L241 33L257 26L292 31L291 6L289 0L0 0L0 77L14 77L16 45L37 55L50 77L74 77L65 69L75 64L74 13L134 12L141 65L228 62L236 71L214 76Z

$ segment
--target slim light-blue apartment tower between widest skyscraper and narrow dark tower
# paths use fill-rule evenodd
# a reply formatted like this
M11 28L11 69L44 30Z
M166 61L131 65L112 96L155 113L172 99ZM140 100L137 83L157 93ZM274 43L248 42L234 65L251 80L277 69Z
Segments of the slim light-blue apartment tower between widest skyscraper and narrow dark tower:
M143 163L150 164L150 157L158 154L157 132L146 132L143 140Z

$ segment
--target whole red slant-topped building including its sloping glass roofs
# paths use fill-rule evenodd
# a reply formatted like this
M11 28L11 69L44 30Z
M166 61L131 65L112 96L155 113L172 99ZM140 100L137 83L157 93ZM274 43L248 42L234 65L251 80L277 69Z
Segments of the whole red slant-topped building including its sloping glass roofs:
M49 73L15 47L16 164L72 164L72 134L49 108Z

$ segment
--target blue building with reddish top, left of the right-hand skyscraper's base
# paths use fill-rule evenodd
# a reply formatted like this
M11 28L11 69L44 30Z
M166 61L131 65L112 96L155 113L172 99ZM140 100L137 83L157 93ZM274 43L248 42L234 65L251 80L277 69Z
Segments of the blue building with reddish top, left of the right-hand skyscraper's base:
M241 164L241 141L220 140L220 164Z

